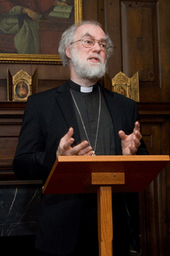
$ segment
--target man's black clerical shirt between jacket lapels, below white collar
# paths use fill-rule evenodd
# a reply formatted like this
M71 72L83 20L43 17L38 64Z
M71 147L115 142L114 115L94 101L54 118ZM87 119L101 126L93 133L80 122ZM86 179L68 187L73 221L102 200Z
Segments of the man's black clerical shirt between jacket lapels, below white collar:
M79 108L78 111L74 103L80 138L81 140L89 140L91 147L95 151L95 155L116 155L113 122L101 89L101 97L99 96L99 89L100 85L96 83L92 86L91 92L81 92L81 86L70 80L70 90ZM97 134L99 105L100 120ZM82 120L79 113L82 116Z

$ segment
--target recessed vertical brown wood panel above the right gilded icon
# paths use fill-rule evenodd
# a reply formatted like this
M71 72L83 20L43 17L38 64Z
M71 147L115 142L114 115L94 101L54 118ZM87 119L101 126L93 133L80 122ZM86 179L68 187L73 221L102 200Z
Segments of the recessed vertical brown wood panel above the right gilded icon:
M139 71L141 88L160 88L157 2L121 1L121 14L123 72Z

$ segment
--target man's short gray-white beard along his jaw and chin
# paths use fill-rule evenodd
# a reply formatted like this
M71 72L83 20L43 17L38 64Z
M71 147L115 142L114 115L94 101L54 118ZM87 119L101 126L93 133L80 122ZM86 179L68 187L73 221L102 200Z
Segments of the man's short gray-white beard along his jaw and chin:
M79 77L96 80L100 79L106 73L106 63L103 63L103 60L98 55L97 58L100 58L102 62L96 64L88 64L87 62L82 62L79 59L78 52L75 48L73 48L71 51L71 57L74 70Z

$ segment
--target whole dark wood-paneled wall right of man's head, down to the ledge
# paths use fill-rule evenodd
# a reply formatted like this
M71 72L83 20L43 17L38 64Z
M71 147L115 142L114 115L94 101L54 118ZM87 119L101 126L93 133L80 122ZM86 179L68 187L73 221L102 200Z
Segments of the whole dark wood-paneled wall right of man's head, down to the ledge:
M170 101L170 2L104 0L104 22L114 42L108 73L139 71L144 102Z

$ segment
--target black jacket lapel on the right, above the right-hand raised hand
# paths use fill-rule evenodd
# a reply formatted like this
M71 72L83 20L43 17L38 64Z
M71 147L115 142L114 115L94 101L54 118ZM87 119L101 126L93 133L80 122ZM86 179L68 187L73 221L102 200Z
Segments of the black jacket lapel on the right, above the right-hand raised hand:
M122 155L122 147L121 147L121 139L119 138L119 130L122 130L122 114L119 108L119 104L116 102L114 98L113 92L110 92L103 87L101 87L104 98L107 102L107 107L110 111L110 115L113 120L113 127L115 133L115 143L116 143L116 154Z

